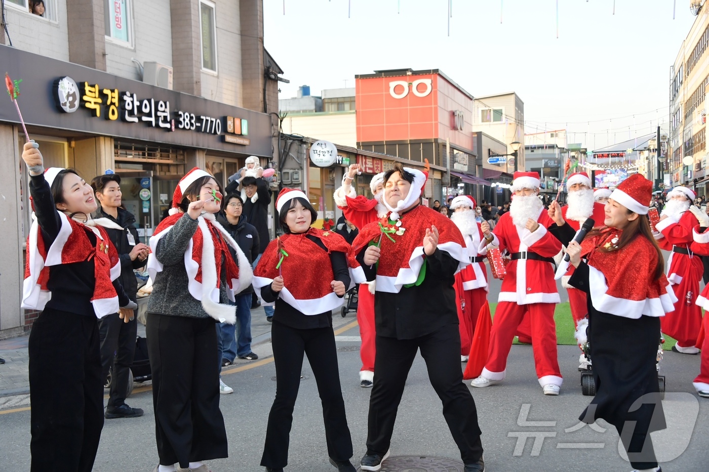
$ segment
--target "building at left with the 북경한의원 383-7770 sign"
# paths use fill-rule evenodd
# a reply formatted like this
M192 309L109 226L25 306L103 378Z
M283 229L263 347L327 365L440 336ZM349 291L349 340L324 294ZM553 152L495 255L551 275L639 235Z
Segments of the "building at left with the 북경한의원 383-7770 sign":
M121 174L125 207L143 239L167 213L191 167L220 184L250 155L278 161L277 82L264 50L262 1L27 0L5 3L0 60L19 84L18 104L46 167L89 181ZM0 247L0 337L21 332L23 241L30 224L26 136L11 101L0 102L6 244Z

